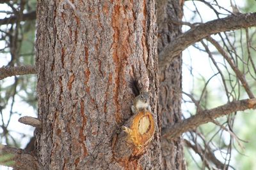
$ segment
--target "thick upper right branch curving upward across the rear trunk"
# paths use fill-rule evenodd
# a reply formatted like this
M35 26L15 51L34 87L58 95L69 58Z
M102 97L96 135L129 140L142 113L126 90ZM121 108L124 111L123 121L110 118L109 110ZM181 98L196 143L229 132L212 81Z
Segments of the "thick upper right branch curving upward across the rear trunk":
M188 46L200 41L201 39L223 31L231 31L234 29L241 29L253 27L256 25L256 13L247 13L239 15L230 15L225 18L212 20L205 24L200 24L193 27L189 31L181 34L173 39L171 43L166 45L159 53L159 67L166 66L172 59L179 55Z

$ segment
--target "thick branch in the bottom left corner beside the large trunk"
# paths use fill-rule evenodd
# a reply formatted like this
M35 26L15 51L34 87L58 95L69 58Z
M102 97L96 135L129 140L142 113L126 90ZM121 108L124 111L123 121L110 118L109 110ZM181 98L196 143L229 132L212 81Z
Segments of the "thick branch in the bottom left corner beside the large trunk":
M9 155L8 160L0 162L3 166L14 169L40 169L36 157L29 152L0 144L0 158L4 158L6 155Z

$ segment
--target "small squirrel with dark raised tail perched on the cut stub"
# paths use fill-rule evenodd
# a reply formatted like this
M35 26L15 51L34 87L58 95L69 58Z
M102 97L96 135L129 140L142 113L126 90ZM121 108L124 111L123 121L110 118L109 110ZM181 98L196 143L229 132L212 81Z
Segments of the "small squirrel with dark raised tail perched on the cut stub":
M150 111L151 112L151 107L149 104L149 94L146 91L141 91L139 85L138 85L138 81L133 81L133 92L134 94L136 94L137 96L134 98L133 100L133 105L131 106L131 110L132 113L136 114L139 111L143 110L145 111ZM140 94L139 94L140 92Z

